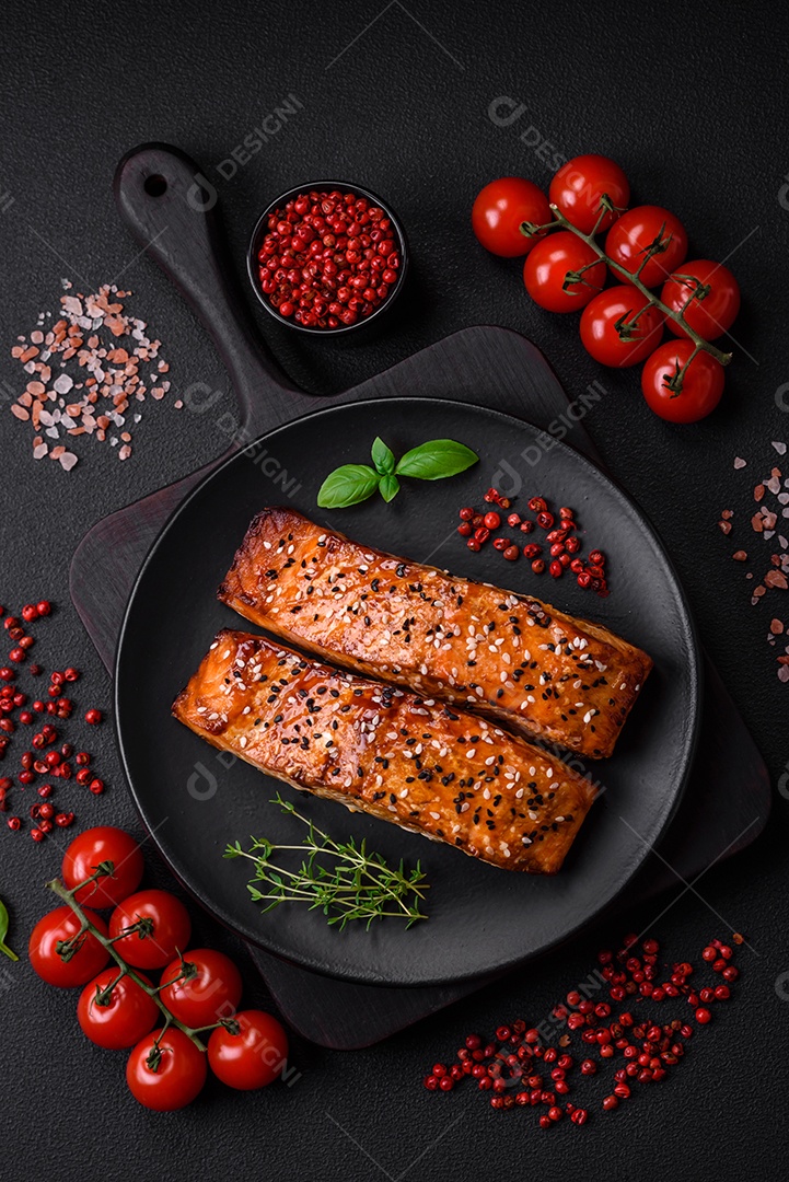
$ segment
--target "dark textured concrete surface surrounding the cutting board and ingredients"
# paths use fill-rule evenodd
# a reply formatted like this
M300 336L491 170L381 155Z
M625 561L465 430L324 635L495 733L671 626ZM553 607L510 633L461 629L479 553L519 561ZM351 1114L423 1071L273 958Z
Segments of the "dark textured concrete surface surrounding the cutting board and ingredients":
M71 553L102 515L223 446L214 416L172 409L178 390L219 384L227 391L220 409L233 407L204 332L152 264L136 258L112 203L110 181L123 152L164 139L195 156L216 184L239 269L260 208L317 176L369 184L404 220L412 306L391 335L356 349L305 344L268 318L263 324L255 309L272 349L305 388L340 390L478 323L530 337L570 395L604 382L607 397L587 426L665 538L704 644L774 778L784 773L789 686L778 683L764 639L770 617L785 618L782 593L751 608L742 567L730 558L738 545L758 540L745 527L749 489L776 462L770 441L789 440L789 400L781 394L789 381L783 6L12 4L4 33L2 390L21 389L11 345L40 310L57 307L60 278L84 290L118 273L135 292L135 313L164 343L174 385L163 403L146 405L132 460L118 463L109 447L80 448L83 462L69 475L50 461L34 465L26 428L7 409L0 415L0 600L15 608L44 595L57 600L57 628L53 617L48 634L39 630L43 663L79 664L84 693L109 704L109 678L67 600ZM220 163L288 95L301 108L224 180ZM488 113L501 96L523 106L507 126ZM731 255L743 292L737 358L723 405L698 427L656 420L637 375L601 371L583 352L574 319L532 305L517 262L485 255L470 233L470 204L484 182L515 173L547 187L550 157L580 151L613 155L632 180L634 201L673 209L689 227L692 254ZM732 470L735 455L749 460L744 473ZM741 522L729 539L716 527L724 507ZM90 738L111 787L79 803L80 824L117 821L139 831L110 727ZM145 1182L229 1174L327 1182L513 1171L782 1176L788 831L787 804L777 795L757 845L715 868L659 918L654 934L670 960L698 957L710 936L731 928L745 931L755 952L742 957L737 1000L674 1076L617 1113L595 1112L582 1130L565 1123L546 1135L530 1111L495 1113L468 1090L431 1096L419 1079L470 1030L520 1013L545 1015L586 979L595 949L618 931L591 933L371 1051L338 1054L294 1039L301 1078L292 1087L244 1096L209 1086L191 1109L170 1117L149 1115L128 1097L123 1056L81 1038L72 996L44 987L24 962L4 962L0 1175L63 1182L87 1173ZM27 836L0 833L0 895L20 949L46 907L40 884L57 871L64 844L63 834L35 847ZM168 882L152 853L149 878ZM630 922L637 930L648 926L671 901L638 909ZM242 956L207 918L196 917L196 929L201 940ZM249 1000L265 1001L250 966L246 975ZM601 1086L589 1089L593 1106Z

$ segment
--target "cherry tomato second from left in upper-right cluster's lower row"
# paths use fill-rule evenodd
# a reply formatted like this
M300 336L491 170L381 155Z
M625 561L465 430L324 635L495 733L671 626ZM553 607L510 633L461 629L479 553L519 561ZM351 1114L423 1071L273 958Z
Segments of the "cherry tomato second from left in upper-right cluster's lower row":
M569 273L589 266L576 282L565 282ZM523 264L526 290L548 312L575 312L598 294L606 281L606 265L591 246L569 229L542 239Z

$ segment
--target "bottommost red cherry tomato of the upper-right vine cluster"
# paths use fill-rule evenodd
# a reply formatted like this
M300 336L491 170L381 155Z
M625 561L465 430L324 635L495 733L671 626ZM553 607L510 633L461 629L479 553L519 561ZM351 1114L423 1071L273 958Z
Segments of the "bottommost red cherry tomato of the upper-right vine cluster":
M679 394L666 385L693 352L691 340L666 340L650 357L641 374L641 390L647 404L670 423L696 423L720 402L723 365L706 352L696 355L689 365Z

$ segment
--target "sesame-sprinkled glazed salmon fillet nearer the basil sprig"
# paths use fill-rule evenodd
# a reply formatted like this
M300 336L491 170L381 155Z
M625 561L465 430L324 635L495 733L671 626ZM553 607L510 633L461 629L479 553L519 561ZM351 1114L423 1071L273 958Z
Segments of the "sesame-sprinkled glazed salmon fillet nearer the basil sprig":
M612 753L652 668L606 628L361 546L288 508L255 517L219 597L328 661L594 759Z

